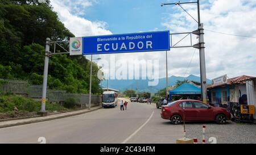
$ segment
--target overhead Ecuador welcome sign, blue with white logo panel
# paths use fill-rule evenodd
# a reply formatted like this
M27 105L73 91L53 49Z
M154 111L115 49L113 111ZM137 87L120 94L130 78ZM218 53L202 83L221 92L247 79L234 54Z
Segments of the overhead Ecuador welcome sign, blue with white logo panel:
M71 55L169 51L170 31L74 37L69 50Z

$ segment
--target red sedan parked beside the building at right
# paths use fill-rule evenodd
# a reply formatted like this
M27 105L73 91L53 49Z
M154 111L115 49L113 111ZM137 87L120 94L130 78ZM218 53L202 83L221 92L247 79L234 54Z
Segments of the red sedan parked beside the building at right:
M177 100L162 106L161 117L172 124L185 121L215 121L225 124L231 115L225 108L213 107L199 100Z

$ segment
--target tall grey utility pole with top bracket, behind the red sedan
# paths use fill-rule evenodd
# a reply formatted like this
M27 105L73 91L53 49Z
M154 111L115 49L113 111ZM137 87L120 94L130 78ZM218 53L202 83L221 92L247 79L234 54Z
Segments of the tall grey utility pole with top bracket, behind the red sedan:
M193 18L182 6L181 4L190 4L190 3L197 3L197 20ZM205 67L205 46L204 46L204 24L201 23L200 20L200 1L197 0L196 2L176 2L176 3L163 3L161 6L164 5L178 5L183 9L189 16L191 16L197 23L198 29L193 31L192 33L199 36L199 43L193 45L194 48L199 49L199 56L200 56L200 81L201 81L201 98L203 102L207 103L207 77L206 77L206 67Z

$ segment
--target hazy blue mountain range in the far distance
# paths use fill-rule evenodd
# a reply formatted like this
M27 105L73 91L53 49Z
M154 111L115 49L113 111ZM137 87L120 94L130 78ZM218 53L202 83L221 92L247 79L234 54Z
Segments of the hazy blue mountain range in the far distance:
M188 77L171 76L168 77L168 86L174 86L178 80L183 81L184 79L188 79L189 81L200 82L200 77L194 76L192 74ZM151 90L152 93L156 93L160 89L166 87L166 78L160 78L158 85L152 87L148 86L148 82L150 82L150 80L148 79L109 79L109 88L117 89L119 91L125 91L127 89L137 90L138 85L137 91L150 92ZM210 84L211 80L207 79L207 83ZM101 82L101 87L107 87L106 80Z

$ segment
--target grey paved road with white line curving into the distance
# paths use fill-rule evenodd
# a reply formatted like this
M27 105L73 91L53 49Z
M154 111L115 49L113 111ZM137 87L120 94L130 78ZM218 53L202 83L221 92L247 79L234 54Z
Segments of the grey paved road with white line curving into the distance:
M160 118L155 104L129 103L127 111L100 109L70 118L0 129L0 143L175 143L182 125Z

